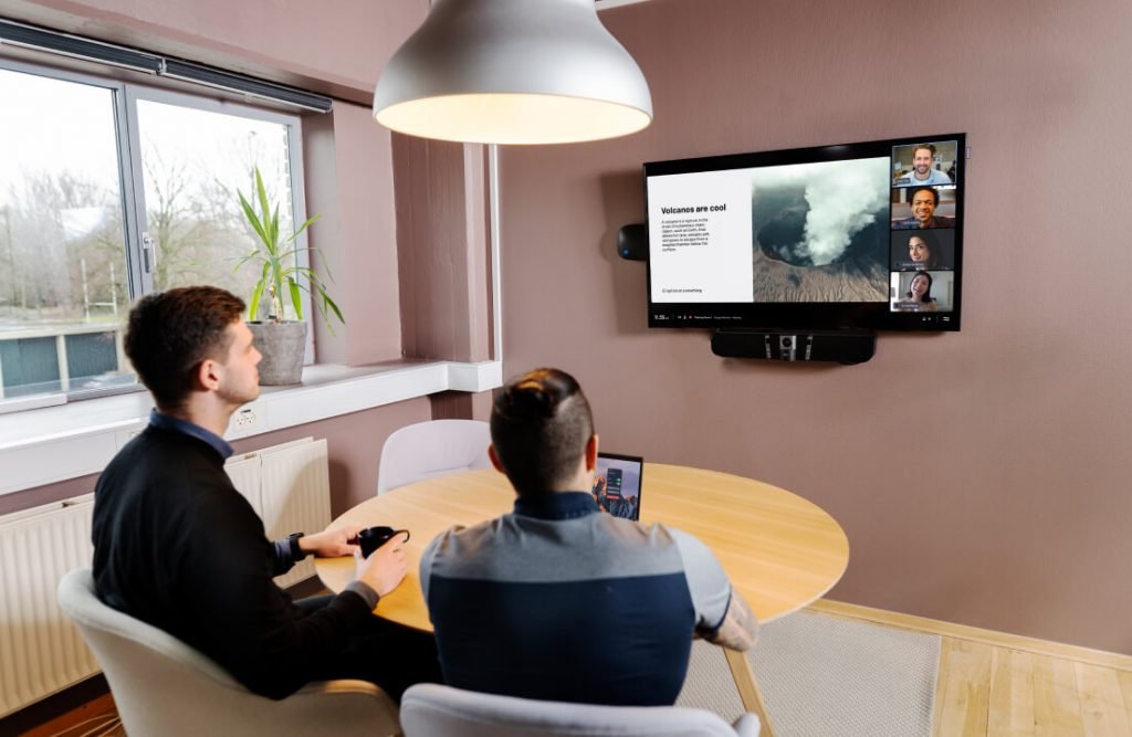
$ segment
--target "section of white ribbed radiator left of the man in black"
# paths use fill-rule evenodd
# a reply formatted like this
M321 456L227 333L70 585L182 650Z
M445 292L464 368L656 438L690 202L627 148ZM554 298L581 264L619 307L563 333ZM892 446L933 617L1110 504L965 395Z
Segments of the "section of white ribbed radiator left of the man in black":
M0 717L98 672L55 603L71 568L91 565L94 495L0 517Z

